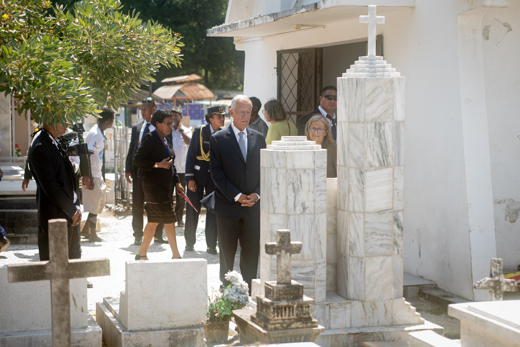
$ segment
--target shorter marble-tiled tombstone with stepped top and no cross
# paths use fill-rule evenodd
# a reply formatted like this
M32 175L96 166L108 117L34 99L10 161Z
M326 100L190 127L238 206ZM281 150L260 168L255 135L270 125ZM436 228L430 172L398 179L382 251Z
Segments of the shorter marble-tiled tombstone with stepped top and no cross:
M327 151L305 136L282 136L261 156L260 286L276 280L276 256L265 243L276 242L277 229L291 230L291 240L303 242L293 254L292 278L304 293L321 302L326 297ZM261 292L253 292L253 297Z

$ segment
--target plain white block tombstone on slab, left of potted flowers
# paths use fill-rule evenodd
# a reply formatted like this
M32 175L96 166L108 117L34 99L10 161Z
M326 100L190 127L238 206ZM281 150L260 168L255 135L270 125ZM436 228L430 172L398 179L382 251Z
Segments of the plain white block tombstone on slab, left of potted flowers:
M136 341L186 347L204 344L202 320L207 303L207 261L129 261L125 291L119 298L96 303L96 320L108 347Z

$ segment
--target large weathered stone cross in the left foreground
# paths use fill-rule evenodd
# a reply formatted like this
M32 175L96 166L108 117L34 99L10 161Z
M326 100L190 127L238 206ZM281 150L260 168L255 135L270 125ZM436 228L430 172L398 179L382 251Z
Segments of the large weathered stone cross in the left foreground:
M49 220L49 258L32 264L7 265L10 283L50 280L50 304L53 327L53 347L70 347L69 279L110 275L107 258L69 260L67 221Z

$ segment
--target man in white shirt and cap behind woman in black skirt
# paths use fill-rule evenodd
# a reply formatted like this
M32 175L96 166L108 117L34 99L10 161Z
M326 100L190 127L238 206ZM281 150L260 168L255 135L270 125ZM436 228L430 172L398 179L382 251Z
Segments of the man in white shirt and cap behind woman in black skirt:
M182 124L183 111L178 108L172 110L173 122L175 123L172 129L172 149L175 153L175 169L179 175L180 184L186 189L186 180L184 174L186 172L186 157L188 155L188 147L191 142L191 130ZM184 207L186 200L177 194L175 190L175 215L177 216L177 226L184 227Z

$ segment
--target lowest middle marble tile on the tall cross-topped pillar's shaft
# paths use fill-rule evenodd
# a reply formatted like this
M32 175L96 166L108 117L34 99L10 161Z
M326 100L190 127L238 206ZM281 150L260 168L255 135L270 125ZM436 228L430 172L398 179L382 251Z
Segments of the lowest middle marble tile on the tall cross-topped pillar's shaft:
M365 300L392 299L392 256L365 258Z

